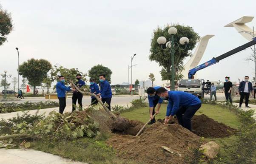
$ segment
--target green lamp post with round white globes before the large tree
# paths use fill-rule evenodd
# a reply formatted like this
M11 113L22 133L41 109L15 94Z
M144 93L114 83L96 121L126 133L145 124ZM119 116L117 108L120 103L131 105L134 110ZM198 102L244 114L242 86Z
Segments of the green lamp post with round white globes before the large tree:
M168 33L171 35L171 38L169 39L168 42L166 42L166 38L165 37L159 37L157 38L157 43L159 45L161 45L162 49L169 48L170 49L170 54L171 54L171 90L175 89L174 86L174 78L175 78L175 68L174 68L174 50L176 48L180 49L180 50L185 50L187 48L187 44L189 42L187 37L182 37L179 39L179 43L181 45L185 45L184 48L179 47L179 43L174 42L174 35L177 34L177 29L175 27L170 27L168 29ZM165 44L165 47L164 47Z

